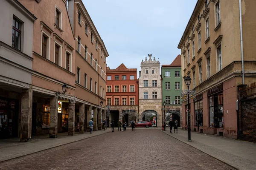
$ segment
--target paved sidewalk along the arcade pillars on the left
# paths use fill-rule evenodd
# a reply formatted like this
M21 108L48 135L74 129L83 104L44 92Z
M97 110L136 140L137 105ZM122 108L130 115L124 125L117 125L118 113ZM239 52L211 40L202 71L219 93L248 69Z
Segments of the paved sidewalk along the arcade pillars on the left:
M67 133L59 133L58 138L49 138L48 135L32 136L31 142L19 142L19 138L1 139L0 140L0 162L9 159L14 159L20 156L25 156L31 153L36 153L42 150L47 150L52 147L58 147L64 144L69 144L82 139L87 139L92 136L98 136L104 133L111 132L111 128L107 130L97 130L86 133L75 133L74 136L68 136Z

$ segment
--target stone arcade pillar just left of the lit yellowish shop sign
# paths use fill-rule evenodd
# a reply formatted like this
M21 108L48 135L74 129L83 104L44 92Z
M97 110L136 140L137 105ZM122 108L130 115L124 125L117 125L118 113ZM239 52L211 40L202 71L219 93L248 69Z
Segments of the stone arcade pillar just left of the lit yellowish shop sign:
M56 96L50 99L50 130L49 138L57 138L58 133L58 100Z

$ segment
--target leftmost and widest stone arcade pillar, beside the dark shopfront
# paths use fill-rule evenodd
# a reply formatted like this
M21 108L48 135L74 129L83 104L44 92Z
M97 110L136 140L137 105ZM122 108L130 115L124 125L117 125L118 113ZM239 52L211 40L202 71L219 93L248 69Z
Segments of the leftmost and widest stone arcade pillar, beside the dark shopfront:
M32 89L21 93L20 142L31 141L32 93Z

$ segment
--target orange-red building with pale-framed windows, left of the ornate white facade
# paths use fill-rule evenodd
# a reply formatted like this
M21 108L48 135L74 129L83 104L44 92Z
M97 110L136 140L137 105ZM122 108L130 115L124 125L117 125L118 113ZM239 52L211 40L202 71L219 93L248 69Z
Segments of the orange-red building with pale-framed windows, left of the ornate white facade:
M124 64L116 69L107 67L106 105L109 106L107 124L117 125L137 121L139 113L139 85L137 68L126 68Z

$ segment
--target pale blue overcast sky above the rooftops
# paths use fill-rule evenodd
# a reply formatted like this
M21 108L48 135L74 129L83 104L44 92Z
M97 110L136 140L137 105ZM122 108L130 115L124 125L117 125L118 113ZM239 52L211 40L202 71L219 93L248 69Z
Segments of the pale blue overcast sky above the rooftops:
M197 0L82 0L108 50L107 66L137 68L152 54L171 64Z

